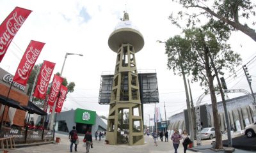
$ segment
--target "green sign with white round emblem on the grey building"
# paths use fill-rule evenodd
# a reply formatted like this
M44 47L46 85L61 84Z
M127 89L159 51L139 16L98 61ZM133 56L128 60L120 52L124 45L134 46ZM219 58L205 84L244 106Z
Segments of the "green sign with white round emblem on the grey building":
M76 109L75 122L83 124L95 124L96 112L92 110Z

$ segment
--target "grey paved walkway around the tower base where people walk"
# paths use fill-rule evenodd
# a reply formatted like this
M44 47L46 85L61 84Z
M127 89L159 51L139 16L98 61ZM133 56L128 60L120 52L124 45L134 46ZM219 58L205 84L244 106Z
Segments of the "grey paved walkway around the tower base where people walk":
M69 145L70 142L68 140L68 135L62 135L59 133L56 133L56 137L60 137L60 143L50 143L45 145L36 145L36 146L28 146L28 147L22 147L17 148L13 150L9 150L10 153L19 152L19 153L37 153L37 152L69 152ZM86 152L85 147L83 146L83 136L79 136L80 143L77 146L77 152ZM174 152L172 141L169 142L161 142L160 139L157 141L158 146L154 146L154 141L152 136L145 136L145 145L139 145L139 146L127 146L127 145L106 145L104 144L105 138L102 138L102 140L99 142L99 140L95 141L93 140L93 149L90 149L90 153L162 153L162 152ZM209 142L212 140L209 140ZM205 141L205 143L209 143ZM204 143L203 143L204 144ZM210 146L208 144L208 146ZM206 148L209 148L205 145ZM74 150L73 150L74 151ZM194 150L195 151L195 150ZM187 150L187 153L194 152L193 150ZM196 149L198 153L213 153L214 151L210 149ZM179 146L179 153L183 152L183 146L180 144ZM224 151L220 151L218 153L222 153ZM238 150L236 149L236 153L248 153L248 151L244 150ZM252 153L252 152L250 152Z

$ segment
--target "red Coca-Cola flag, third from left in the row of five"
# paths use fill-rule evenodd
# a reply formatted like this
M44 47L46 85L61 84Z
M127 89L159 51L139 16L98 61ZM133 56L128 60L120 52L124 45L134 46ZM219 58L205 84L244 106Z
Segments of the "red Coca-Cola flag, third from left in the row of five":
M49 61L44 61L42 64L38 80L36 82L35 92L33 94L36 98L45 99L54 66L55 63Z

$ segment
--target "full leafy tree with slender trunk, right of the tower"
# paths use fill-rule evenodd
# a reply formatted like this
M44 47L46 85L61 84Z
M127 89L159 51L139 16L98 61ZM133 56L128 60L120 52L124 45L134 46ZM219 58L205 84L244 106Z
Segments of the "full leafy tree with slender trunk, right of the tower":
M222 66L230 72L234 72L234 67L239 65L241 58L239 54L230 50L227 44L227 33L219 34L214 31L214 27L205 25L199 28L184 30L184 38L174 36L166 41L166 54L168 55L168 69L172 69L178 74L183 71L191 75L193 81L200 82L205 91L211 93L212 114L214 127L216 129L216 149L222 149L222 138L220 130L220 120L218 118L217 100L214 89L214 69ZM213 63L209 60L211 55Z

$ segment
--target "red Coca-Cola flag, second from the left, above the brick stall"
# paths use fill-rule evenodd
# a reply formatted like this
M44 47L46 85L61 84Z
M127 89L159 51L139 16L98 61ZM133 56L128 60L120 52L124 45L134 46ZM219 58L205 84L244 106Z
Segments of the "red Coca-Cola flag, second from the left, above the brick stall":
M28 82L29 75L35 66L35 62L41 53L45 43L31 40L26 52L24 53L17 71L13 77L13 82L25 85Z

